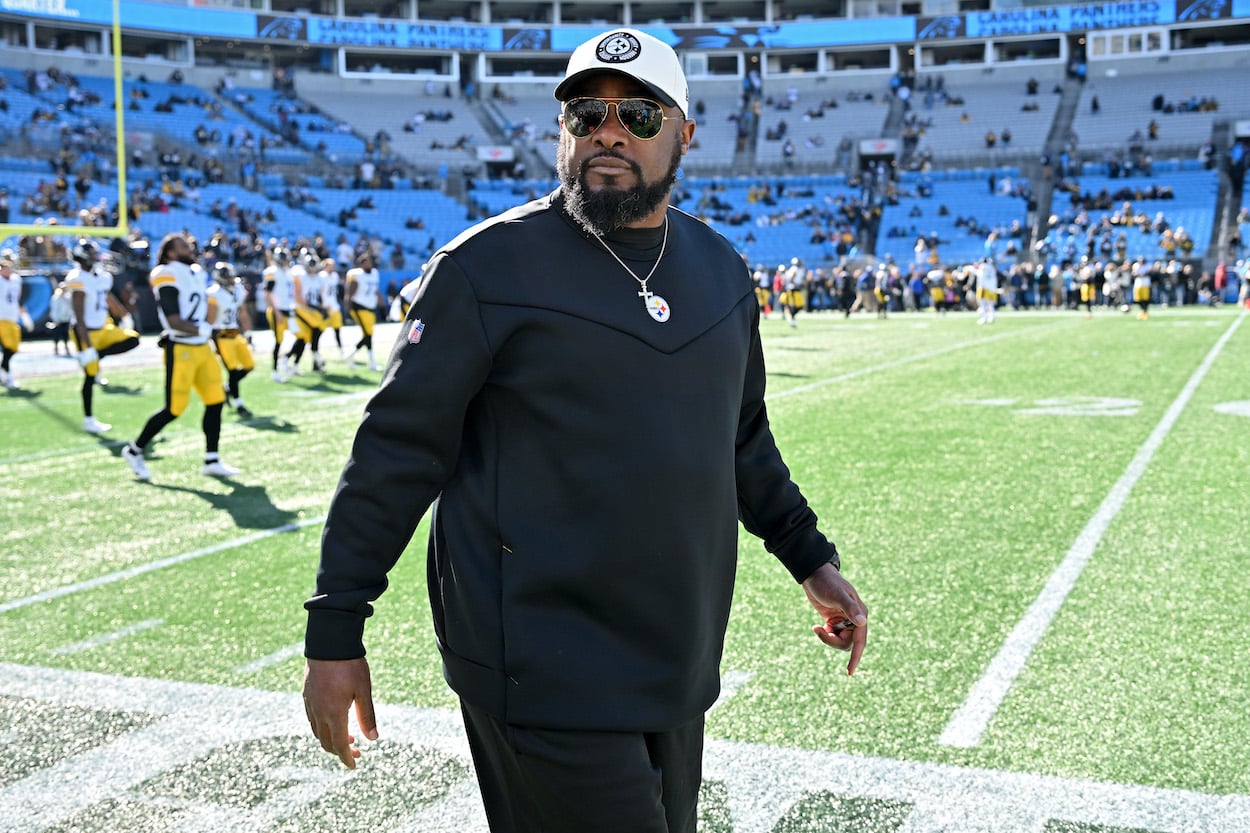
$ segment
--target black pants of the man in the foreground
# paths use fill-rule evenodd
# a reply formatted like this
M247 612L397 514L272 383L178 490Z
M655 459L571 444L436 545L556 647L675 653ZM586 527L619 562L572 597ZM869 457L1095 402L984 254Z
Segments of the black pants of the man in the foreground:
M695 833L704 718L668 732L509 725L461 700L491 833Z

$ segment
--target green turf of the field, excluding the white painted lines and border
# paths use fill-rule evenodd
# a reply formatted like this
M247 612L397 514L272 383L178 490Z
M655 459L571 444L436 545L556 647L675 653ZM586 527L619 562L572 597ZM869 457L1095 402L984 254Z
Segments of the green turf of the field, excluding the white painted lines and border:
M845 654L811 637L801 590L744 535L724 669L752 677L711 714L709 734L1250 793L1250 625L1239 570L1250 423L1214 411L1250 400L1250 326L1199 386L982 742L938 743L1234 319L1231 310L1161 310L1148 323L1004 314L992 328L971 315L802 316L798 329L764 321L774 430L871 608L871 639L848 679ZM159 406L160 370L106 371L112 384L96 395L96 413L116 427L108 440L79 430L78 375L24 379L26 393L0 396L0 603L310 525L2 613L0 662L295 690L299 658L238 669L301 638L315 522L376 374L332 364L325 379L276 385L258 371L245 393L262 419L228 415L222 435L222 455L244 468L236 482L199 474L201 409L192 404L152 449L154 483L140 484L118 440ZM1054 400L1079 408L1021 413ZM1140 405L1131 415L1099 413L1099 401L1116 400ZM452 708L430 634L424 535L422 524L366 630L375 697ZM165 624L54 653L149 619Z

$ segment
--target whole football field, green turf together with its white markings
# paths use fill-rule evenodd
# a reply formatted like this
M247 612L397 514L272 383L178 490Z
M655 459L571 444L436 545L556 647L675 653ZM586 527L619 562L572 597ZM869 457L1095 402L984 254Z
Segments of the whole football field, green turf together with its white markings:
M744 533L700 830L1250 832L1246 316L765 320L774 433L870 638L848 677ZM256 415L221 440L242 474L200 474L194 400L139 483L120 448L161 404L155 339L104 360L102 437L50 350L0 393L0 830L484 833L425 523L366 628L381 739L355 772L299 698L380 374L331 351L279 385L258 349Z

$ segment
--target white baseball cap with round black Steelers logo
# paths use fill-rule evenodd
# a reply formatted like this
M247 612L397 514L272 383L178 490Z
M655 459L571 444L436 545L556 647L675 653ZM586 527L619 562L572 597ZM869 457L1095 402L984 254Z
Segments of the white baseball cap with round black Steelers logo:
M620 73L639 81L664 104L690 115L690 88L681 60L672 48L658 38L636 29L614 29L595 35L569 56L564 80L555 88L555 98L564 101L580 78L591 73Z

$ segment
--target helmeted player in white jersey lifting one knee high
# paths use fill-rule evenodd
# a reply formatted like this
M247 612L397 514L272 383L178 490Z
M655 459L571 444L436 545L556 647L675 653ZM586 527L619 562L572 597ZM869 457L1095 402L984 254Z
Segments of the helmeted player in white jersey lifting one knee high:
M139 333L126 324L130 315L112 293L112 275L104 268L100 246L89 238L81 238L70 250L75 266L65 275L65 289L70 293L74 320L70 333L82 365L82 430L102 434L112 428L101 423L92 413L92 393L100 373L100 359L139 346ZM114 321L122 321L118 326Z

